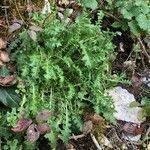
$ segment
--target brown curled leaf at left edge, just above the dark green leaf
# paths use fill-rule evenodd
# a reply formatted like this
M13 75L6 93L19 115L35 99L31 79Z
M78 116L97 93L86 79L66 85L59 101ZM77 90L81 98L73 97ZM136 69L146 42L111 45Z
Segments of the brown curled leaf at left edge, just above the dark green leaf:
M0 85L1 86L11 86L16 84L17 80L14 75L10 75L7 77L0 77Z

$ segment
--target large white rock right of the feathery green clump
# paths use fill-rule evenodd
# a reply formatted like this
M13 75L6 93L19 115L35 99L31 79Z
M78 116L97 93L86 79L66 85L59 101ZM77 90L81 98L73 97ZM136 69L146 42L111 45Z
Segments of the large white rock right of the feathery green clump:
M116 112L114 116L117 120L140 124L143 120L138 120L138 112L142 108L130 108L130 103L135 101L134 95L129 93L122 87L115 87L108 91L108 95L112 97Z

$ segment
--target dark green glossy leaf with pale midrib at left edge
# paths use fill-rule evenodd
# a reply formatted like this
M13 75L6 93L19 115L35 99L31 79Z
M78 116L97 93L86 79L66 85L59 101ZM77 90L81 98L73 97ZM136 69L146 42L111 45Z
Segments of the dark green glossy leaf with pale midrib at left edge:
M8 107L17 107L20 101L19 96L12 87L0 87L0 102Z

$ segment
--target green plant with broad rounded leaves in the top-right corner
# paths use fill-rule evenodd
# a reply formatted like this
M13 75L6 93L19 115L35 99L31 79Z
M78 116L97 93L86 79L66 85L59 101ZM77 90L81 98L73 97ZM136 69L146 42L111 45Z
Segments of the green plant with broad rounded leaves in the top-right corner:
M113 2L113 9L117 9L118 13L121 15L113 23L113 27L122 27L127 30L128 27L131 33L140 37L142 34L150 33L150 2L147 0L124 0Z

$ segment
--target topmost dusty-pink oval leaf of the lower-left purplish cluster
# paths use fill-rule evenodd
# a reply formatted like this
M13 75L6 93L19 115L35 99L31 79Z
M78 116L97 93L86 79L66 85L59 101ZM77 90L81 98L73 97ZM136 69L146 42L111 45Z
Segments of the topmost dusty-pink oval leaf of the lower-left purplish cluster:
M43 110L37 114L36 121L37 122L47 121L51 116L52 112L50 112L49 110Z

